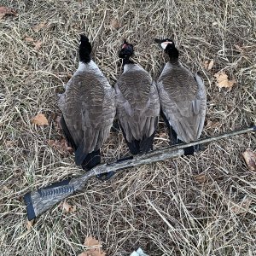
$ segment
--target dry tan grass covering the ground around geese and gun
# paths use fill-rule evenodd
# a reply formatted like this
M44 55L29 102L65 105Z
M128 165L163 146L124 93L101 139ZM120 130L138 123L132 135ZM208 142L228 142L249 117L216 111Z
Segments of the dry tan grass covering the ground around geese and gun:
M125 171L106 183L92 179L67 200L76 212L53 207L30 231L22 201L31 189L82 172L73 155L62 156L47 143L62 136L54 121L60 113L55 90L78 66L81 32L93 39L93 58L112 84L120 73L123 38L135 44L134 59L157 78L166 57L153 39L173 34L183 63L205 80L207 121L219 123L202 136L255 124L255 1L1 0L0 5L19 12L0 20L1 255L78 255L90 235L108 255L129 255L137 247L155 256L255 255L256 177L241 158L245 148L255 149L253 134L212 143L189 158ZM109 26L113 19L119 29ZM47 26L33 32L44 20ZM43 40L42 48L33 49L26 36ZM211 59L215 64L208 72L203 61ZM236 79L231 91L218 90L213 74L219 70ZM45 113L50 125L32 125L37 113ZM166 145L161 122L155 147ZM120 133L111 134L103 154L104 160L127 154Z

